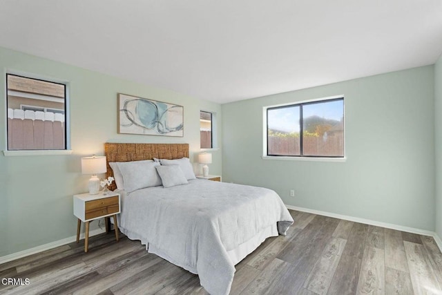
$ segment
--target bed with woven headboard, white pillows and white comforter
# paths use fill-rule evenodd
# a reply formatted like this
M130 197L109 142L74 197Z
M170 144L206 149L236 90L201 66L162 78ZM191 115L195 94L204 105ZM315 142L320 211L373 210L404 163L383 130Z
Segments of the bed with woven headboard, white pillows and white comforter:
M105 154L107 176L115 176L111 164L118 162L120 168L155 165L162 180L162 185L155 185L155 180L148 187L137 188L126 187L130 181L124 178L124 190L119 190L120 231L140 240L148 252L198 274L210 294L229 294L235 265L266 238L285 235L294 222L278 194L270 189L194 179L186 166L179 169L182 162L177 159L185 162L189 158L189 144L106 143ZM172 161L164 160L162 165L146 161L152 159ZM133 175L149 175L148 171L133 171L131 168ZM186 183L169 186L164 171L173 177L178 173L180 180L184 175ZM111 187L116 188L115 184Z

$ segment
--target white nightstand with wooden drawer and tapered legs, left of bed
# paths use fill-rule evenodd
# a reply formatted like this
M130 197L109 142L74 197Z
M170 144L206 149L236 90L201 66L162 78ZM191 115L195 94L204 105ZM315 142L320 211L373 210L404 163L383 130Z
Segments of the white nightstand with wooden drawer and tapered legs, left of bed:
M80 238L81 221L86 225L84 231L84 251L88 251L89 243L89 222L98 218L104 217L106 219L106 231L107 218L113 217L113 223L115 227L115 238L117 242L118 238L118 224L117 215L120 212L120 196L119 193L109 191L107 195L103 195L100 191L97 195L90 195L89 193L81 193L74 195L74 215L77 216L77 242Z

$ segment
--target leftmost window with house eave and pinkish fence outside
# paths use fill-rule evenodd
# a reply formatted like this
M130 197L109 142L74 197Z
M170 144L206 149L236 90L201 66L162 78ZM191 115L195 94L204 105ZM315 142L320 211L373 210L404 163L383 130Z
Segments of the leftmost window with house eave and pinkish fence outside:
M66 150L66 85L6 75L8 151Z

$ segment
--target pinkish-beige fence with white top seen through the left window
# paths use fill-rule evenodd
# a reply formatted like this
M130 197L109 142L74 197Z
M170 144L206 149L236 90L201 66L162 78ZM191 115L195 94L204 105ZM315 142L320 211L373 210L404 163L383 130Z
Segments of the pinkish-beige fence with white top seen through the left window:
M61 113L8 108L8 150L66 149Z

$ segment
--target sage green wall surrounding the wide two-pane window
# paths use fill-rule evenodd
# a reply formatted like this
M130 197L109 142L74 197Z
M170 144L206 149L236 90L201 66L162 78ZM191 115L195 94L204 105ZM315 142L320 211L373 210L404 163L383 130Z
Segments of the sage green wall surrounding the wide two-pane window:
M434 231L433 70L223 104L223 180L274 189L293 206ZM263 106L333 95L345 95L346 162L262 160Z

